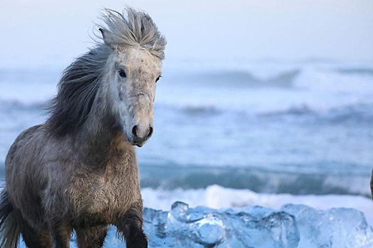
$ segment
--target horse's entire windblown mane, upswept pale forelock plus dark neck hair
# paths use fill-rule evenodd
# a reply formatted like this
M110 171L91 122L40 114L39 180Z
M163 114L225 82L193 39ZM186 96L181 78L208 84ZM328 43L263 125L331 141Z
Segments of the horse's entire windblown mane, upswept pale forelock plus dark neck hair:
M107 28L99 26L104 30L105 43L97 44L65 69L58 94L48 108L50 118L45 124L56 136L77 131L87 120L112 47L140 45L164 59L166 39L148 14L131 8L126 9L127 17L117 11L105 11L102 19Z

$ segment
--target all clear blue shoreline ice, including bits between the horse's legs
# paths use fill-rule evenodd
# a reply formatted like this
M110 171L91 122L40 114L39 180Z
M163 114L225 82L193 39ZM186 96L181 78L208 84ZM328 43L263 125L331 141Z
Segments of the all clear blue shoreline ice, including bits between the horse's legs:
M148 247L373 247L362 212L293 204L212 209L177 201L170 211L144 208L144 232ZM77 247L75 237L70 247ZM126 247L112 226L104 247Z

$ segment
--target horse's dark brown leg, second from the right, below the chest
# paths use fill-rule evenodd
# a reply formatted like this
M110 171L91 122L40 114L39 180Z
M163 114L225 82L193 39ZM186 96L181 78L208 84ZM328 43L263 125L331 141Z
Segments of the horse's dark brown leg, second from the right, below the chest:
M101 248L107 235L107 225L76 229L79 248Z

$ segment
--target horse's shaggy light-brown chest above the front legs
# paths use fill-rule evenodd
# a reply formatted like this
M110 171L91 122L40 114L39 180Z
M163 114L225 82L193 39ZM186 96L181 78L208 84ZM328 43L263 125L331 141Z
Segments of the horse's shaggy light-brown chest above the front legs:
M128 164L109 164L99 175L80 174L70 190L72 208L80 215L110 220L141 200L138 175L137 166Z

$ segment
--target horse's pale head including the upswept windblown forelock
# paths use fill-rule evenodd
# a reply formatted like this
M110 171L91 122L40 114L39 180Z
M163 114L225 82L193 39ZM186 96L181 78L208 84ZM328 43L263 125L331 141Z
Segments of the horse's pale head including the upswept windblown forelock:
M129 142L141 147L153 134L153 101L166 40L145 13L128 9L128 19L108 13L108 28L100 28L112 48L104 77L107 97Z

